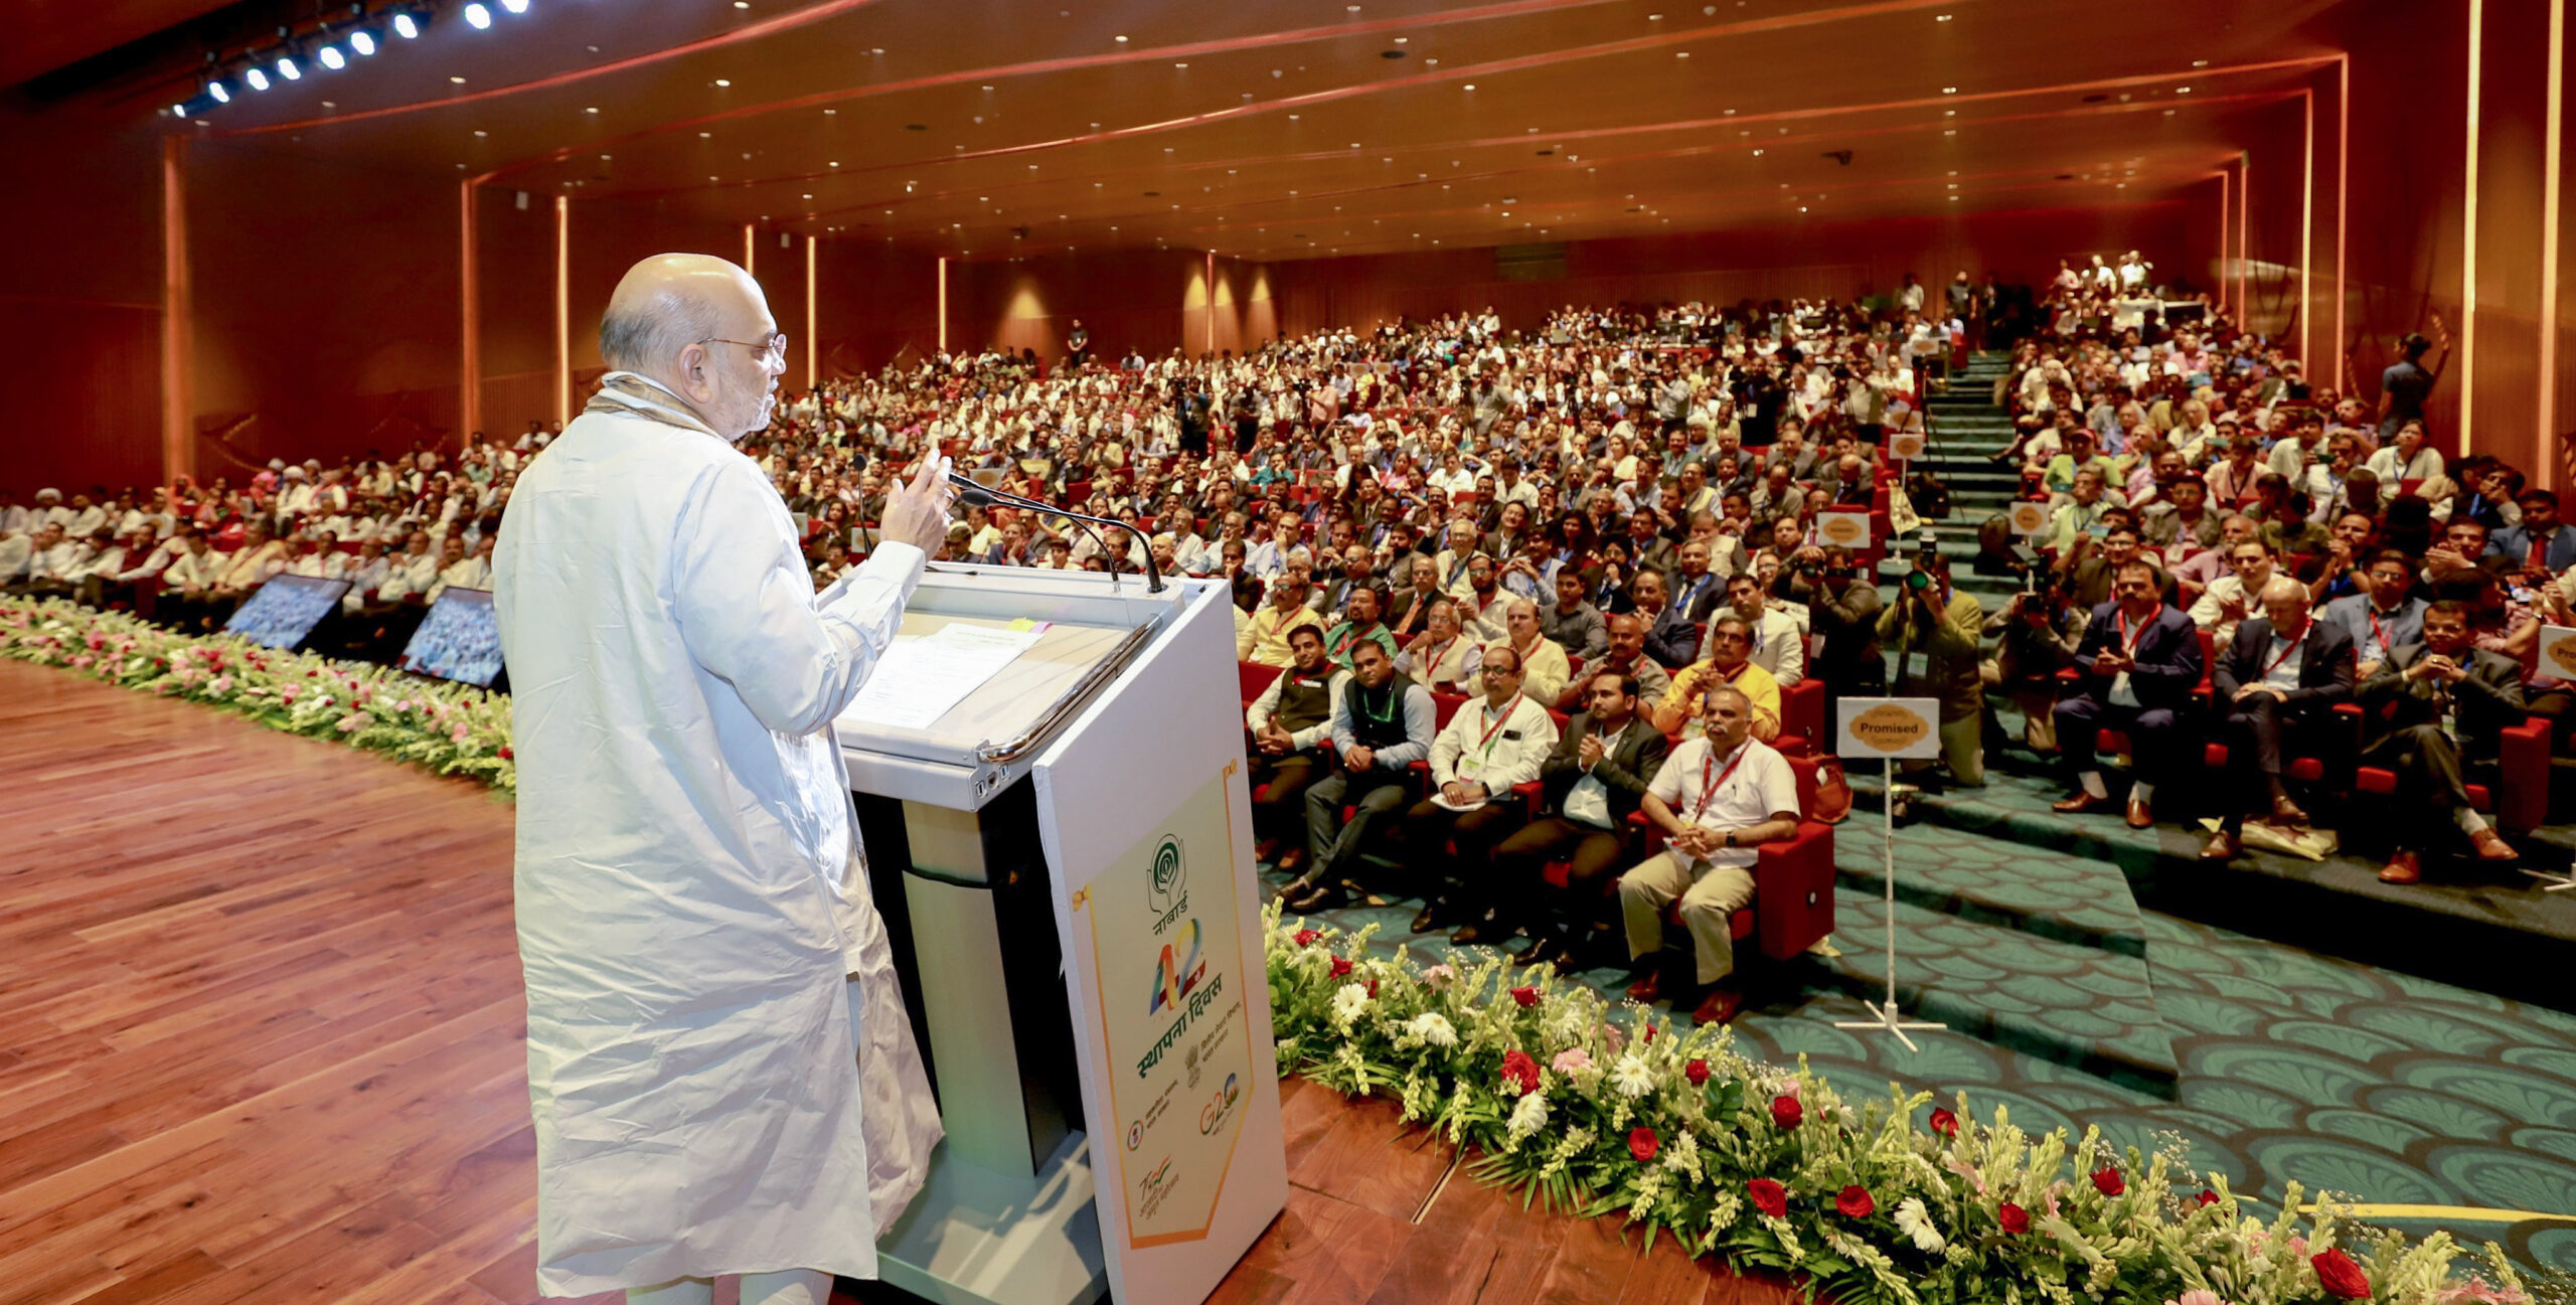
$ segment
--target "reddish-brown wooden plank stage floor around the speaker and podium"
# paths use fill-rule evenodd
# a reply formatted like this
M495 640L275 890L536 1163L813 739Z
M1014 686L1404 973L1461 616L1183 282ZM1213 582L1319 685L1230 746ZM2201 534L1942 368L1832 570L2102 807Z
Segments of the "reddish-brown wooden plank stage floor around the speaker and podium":
M15 662L0 757L0 1305L536 1300L510 803ZM1422 1210L1448 1153L1383 1102L1285 1112L1216 1300L1785 1300L1466 1176Z

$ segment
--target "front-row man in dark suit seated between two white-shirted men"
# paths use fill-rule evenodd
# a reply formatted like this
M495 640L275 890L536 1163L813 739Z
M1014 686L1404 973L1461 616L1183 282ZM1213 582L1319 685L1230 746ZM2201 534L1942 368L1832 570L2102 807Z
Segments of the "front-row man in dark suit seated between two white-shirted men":
M1638 625L1633 615L1620 620ZM1636 662L1654 667L1643 656ZM1628 816L1672 746L1641 716L1643 685L1633 672L1592 674L1584 692L1584 710L1538 767L1548 785L1546 813L1494 849L1497 898L1530 929L1530 947L1512 958L1515 965L1579 963L1600 916L1600 880L1625 857ZM1546 883L1553 860L1569 862L1564 891Z

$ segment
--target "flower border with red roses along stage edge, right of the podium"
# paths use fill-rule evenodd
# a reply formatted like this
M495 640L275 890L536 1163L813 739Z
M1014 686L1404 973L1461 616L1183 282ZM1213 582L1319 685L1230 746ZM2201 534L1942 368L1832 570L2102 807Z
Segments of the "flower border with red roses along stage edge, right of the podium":
M1651 1243L1790 1274L1839 1305L2290 1305L2530 1300L2494 1243L2367 1230L2293 1184L2259 1217L2177 1153L2027 1135L1968 1099L1842 1099L1749 1060L1726 1027L1677 1032L1546 968L1414 965L1358 934L1267 911L1280 1071L1394 1094L1481 1158L1473 1174L1584 1217L1628 1212ZM1929 1107L1929 1109L1927 1109Z

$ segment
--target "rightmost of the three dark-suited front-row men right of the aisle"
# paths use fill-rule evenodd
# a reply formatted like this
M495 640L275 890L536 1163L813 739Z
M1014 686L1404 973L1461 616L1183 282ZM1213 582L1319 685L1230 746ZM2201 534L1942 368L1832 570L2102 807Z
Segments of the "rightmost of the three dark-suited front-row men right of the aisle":
M2481 651L2468 633L2468 607L2434 602L2424 641L2403 643L2354 690L2362 703L2362 764L2393 770L2396 801L2424 803L2401 816L2380 878L2424 878L2421 849L2450 824L2468 834L2478 860L2509 862L2517 852L2468 806L2468 775L2491 772L2506 726L2522 723L2522 667Z

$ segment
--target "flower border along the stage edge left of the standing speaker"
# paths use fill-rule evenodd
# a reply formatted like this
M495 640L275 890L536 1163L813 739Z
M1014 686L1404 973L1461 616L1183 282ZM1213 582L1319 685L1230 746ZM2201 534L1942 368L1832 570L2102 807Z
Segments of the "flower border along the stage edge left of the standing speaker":
M188 636L62 600L0 597L0 656L64 667L129 690L185 698L289 734L518 790L510 698L389 667L286 654L232 636Z

